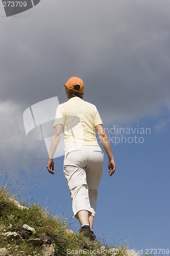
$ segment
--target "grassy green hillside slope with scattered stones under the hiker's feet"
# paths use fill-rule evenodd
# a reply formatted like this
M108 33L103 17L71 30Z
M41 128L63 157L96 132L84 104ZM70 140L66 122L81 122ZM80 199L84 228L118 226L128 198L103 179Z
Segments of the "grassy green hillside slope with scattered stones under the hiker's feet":
M23 204L22 204L23 205ZM88 247L87 239L79 233L68 233L66 223L60 217L53 217L46 214L44 209L38 204L32 206L25 205L28 208L21 209L11 201L11 195L8 195L5 188L0 189L0 248L6 248L8 255L11 256L43 256L42 245L32 245L29 241L33 238L47 240L55 245L55 255L112 255L111 247L105 245L106 254L100 254L101 243L95 243L92 247ZM22 225L27 224L35 229L30 233L23 229ZM22 242L10 240L3 233L17 232L22 238ZM122 250L126 250L125 246L117 248L119 252L115 255L124 255ZM93 253L92 253L93 252ZM99 252L99 253L97 253ZM104 248L103 248L104 252Z

